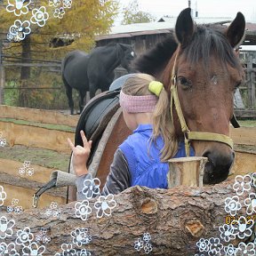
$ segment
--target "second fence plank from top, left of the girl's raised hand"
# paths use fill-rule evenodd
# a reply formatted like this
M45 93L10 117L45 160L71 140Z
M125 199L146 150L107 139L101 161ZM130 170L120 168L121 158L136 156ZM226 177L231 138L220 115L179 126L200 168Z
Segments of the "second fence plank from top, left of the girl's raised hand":
M70 153L67 138L74 140L74 132L61 132L32 125L13 124L0 121L0 131L3 138L12 147L24 145L27 147L46 148L57 152Z

